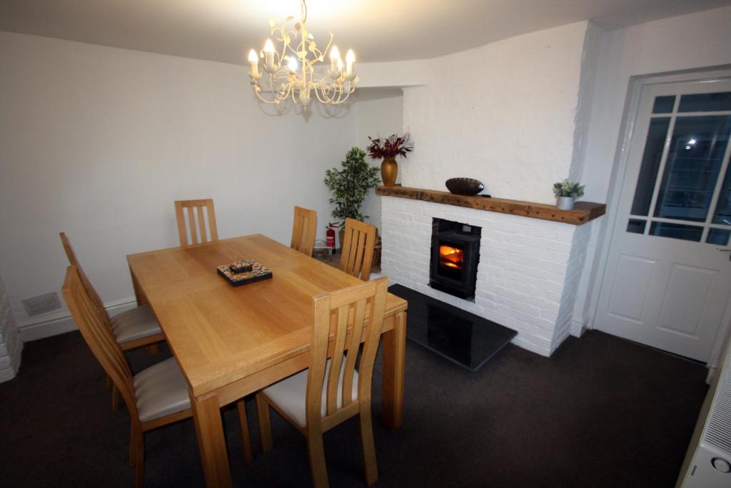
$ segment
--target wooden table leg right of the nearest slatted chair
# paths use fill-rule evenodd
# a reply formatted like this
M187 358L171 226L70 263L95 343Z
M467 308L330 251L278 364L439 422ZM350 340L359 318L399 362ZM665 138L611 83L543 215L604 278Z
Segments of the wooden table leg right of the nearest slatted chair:
M389 429L404 424L404 360L406 312L393 318L393 329L383 334L383 423Z

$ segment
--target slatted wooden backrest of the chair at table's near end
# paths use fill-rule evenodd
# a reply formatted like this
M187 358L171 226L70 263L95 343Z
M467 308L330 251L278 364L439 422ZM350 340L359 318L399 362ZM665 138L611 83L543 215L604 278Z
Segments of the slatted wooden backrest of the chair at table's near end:
M361 339L363 352L358 365L357 402L371 405L371 380L376 351L383 328L388 279L382 277L362 285L355 285L327 295L314 297L314 327L310 344L310 367L307 377L306 417L311 427L354 402L352 386L355 362ZM330 331L334 331L332 356L328 378L325 378ZM344 352L348 351L344 356ZM338 408L338 383L342 362L342 405ZM327 388L326 416L322 417L322 390Z

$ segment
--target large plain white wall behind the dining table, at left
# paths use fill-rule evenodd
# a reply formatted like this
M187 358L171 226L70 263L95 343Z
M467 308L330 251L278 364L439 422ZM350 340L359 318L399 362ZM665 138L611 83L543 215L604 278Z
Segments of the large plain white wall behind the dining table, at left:
M176 199L213 198L221 238L288 244L295 205L324 236L354 113L269 116L246 67L45 37L0 32L0 66L0 276L20 326L58 316L20 299L60 292L61 230L107 304L132 298L126 254L178 244Z

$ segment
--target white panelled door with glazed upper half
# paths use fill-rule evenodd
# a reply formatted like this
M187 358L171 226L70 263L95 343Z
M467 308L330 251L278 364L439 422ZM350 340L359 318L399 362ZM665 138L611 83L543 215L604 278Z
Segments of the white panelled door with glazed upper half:
M731 296L731 80L646 85L596 329L708 361Z

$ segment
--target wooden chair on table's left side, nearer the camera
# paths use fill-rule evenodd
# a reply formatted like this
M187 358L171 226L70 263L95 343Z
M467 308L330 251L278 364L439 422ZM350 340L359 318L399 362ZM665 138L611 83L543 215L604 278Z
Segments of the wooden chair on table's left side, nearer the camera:
M91 296L86 293L75 266L67 268L63 293L71 315L91 353L112 378L127 405L132 424L129 465L136 468L135 487L142 487L145 476L143 434L148 430L192 416L188 382L175 358L166 359L132 376L124 352L110 333L110 324L105 323L105 316L99 313ZM243 404L243 400L240 404ZM241 408L241 405L239 418L245 452L246 446L249 446L250 453L246 410Z

